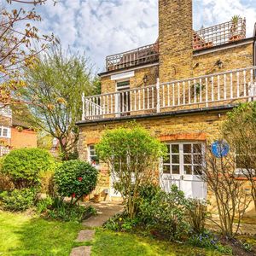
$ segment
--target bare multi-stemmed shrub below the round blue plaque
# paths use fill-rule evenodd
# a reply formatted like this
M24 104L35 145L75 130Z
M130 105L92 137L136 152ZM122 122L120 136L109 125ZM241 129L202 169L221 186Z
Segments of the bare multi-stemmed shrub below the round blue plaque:
M251 202L245 182L236 178L234 154L217 158L212 154L211 146L207 146L205 159L200 177L207 183L207 189L216 201L220 222L216 224L224 236L234 237Z

